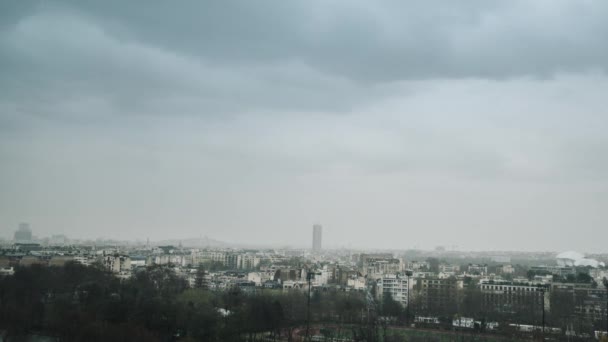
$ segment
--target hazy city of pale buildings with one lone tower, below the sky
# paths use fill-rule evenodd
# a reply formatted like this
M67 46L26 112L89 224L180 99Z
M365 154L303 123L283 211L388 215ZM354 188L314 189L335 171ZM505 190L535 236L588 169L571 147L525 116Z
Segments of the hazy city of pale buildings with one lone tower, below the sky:
M608 253L467 252L442 246L402 251L324 249L325 227L316 223L311 228L310 248L242 249L208 238L177 245L149 240L83 243L64 235L40 239L32 235L29 224L20 223L13 241L2 245L0 287L10 289L6 284L11 278L27 277L39 267L66 271L84 267L121 283L166 272L181 284L178 296L213 293L241 300L299 296L299 312L281 308L273 329L254 329L255 337L248 337L256 341L416 340L424 334L431 338L429 331L447 339L488 341L501 337L587 340L606 334ZM45 307L66 295L52 286L43 288ZM75 292L67 295L75 296L72 305L86 304L80 296L88 290L71 291ZM344 296L352 305L350 317L322 303ZM2 322L19 325L11 317L14 300L6 292L0 300ZM239 308L231 309L227 303L215 307L212 314L237 319ZM175 320L173 339L193 333L179 317L169 319ZM248 332L244 328L232 336L215 333L216 339L228 340Z

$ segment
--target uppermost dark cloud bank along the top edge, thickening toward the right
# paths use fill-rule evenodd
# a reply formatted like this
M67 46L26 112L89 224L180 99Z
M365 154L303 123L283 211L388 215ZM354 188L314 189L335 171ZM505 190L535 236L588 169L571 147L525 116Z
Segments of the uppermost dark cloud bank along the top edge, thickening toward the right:
M45 11L213 64L297 60L363 82L547 77L608 65L603 1L49 1L28 14Z

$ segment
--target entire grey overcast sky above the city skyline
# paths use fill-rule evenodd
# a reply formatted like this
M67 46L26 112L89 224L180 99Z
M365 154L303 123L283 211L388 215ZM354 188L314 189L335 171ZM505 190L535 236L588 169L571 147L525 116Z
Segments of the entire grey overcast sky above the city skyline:
M606 251L608 1L2 1L0 235Z

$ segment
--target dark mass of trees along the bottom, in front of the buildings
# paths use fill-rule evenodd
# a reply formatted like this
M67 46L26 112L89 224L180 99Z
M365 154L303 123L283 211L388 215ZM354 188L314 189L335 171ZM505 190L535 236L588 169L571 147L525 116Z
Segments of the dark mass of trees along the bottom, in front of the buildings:
M60 341L113 342L302 341L305 336L369 342L540 337L504 330L507 324L503 324L538 322L542 315L534 310L538 304L525 303L526 307L506 316L485 311L481 293L472 284L465 287L461 302L443 310L413 300L410 309L417 315L434 314L440 320L437 324L417 323L416 330L406 325L413 323L412 312L407 316L408 311L390 296L375 302L374 289L369 294L313 291L309 303L307 292L301 290L236 287L210 291L198 281L195 286L188 287L168 267L150 267L127 280L116 278L100 265L18 267L13 276L0 277L0 336L9 341L42 335ZM552 294L553 309L545 318L550 326L561 327L571 321L566 318L572 317L576 305L567 297L556 296ZM451 323L457 315L485 318L474 329L456 331ZM489 331L484 321L501 322L501 328ZM580 331L597 329L591 324L579 321L577 326ZM565 336L562 332L552 338Z

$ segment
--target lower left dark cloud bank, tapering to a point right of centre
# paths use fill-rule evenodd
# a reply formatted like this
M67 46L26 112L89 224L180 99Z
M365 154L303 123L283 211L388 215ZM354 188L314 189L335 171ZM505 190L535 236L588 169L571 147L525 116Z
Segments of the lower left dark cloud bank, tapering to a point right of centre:
M340 111L377 93L297 60L216 65L131 30L117 33L65 4L34 8L0 34L3 96L28 99L37 107L30 114L69 115L65 105L90 94L112 107L106 114L213 116L255 108Z

